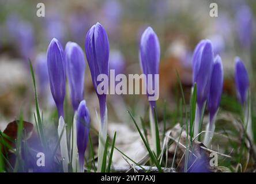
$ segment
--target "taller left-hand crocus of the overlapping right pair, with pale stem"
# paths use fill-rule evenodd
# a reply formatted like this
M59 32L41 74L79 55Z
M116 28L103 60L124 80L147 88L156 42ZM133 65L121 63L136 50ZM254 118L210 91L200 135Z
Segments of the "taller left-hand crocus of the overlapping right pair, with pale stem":
M195 136L198 135L199 119L210 90L213 59L212 42L210 40L201 40L194 49L192 59L193 83L197 83L197 109L194 123Z

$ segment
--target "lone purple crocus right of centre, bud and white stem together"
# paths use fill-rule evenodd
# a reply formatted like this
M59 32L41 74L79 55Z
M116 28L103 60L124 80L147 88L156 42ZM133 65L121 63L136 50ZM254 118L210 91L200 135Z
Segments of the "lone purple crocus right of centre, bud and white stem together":
M150 129L153 139L153 147L155 152L157 151L157 140L156 140L156 129L155 129L155 118L153 116L153 109L156 108L156 100L150 99L156 94L152 94L150 90L159 87L158 77L159 76L159 62L160 62L160 44L156 33L150 27L148 27L141 36L140 43L140 65L142 72L146 75L146 94L149 98L150 104ZM149 75L152 75L152 80L149 80ZM155 81L156 80L156 81ZM156 92L155 92L156 93ZM158 95L158 94L157 94Z

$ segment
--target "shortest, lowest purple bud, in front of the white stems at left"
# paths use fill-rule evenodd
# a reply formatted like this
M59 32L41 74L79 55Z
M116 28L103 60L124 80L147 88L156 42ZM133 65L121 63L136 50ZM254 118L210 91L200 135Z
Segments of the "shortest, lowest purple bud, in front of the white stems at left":
M78 164L79 170L83 172L84 168L84 154L88 142L89 128L90 128L90 114L83 100L80 102L76 116L77 125L77 150L78 150Z

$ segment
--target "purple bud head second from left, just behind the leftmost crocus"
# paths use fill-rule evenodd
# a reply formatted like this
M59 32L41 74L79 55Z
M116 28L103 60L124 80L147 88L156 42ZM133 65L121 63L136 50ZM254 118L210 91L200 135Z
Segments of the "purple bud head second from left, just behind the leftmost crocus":
M74 111L76 111L84 95L85 74L84 53L79 45L73 42L68 42L66 44L65 62L71 102Z

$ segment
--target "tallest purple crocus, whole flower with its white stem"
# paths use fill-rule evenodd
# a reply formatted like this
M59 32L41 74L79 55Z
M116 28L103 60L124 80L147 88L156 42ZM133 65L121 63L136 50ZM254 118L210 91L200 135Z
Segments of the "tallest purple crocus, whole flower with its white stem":
M110 48L106 30L98 22L89 29L85 39L85 53L92 75L92 83L96 90L100 104L100 129L99 129L99 151L98 151L98 171L101 170L104 145L107 139L107 106L106 93L99 93L97 86L100 81L97 77L100 74L108 76L108 57ZM108 85L106 85L108 86ZM104 89L107 92L107 89Z

